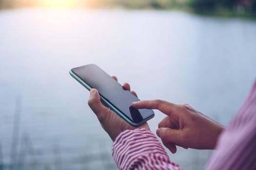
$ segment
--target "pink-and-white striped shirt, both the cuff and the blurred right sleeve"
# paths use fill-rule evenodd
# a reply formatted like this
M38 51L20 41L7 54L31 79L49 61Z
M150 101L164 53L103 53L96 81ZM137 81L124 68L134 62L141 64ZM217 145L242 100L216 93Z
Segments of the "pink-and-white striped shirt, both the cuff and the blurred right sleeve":
M217 142L207 170L256 170L256 82L236 117ZM157 137L146 129L126 130L113 143L120 170L181 170Z

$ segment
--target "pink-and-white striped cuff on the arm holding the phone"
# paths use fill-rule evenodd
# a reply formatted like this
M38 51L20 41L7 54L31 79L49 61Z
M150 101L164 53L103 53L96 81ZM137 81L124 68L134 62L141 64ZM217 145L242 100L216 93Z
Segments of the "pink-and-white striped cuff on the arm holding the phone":
M157 137L146 129L118 135L112 155L119 170L182 170L171 162Z

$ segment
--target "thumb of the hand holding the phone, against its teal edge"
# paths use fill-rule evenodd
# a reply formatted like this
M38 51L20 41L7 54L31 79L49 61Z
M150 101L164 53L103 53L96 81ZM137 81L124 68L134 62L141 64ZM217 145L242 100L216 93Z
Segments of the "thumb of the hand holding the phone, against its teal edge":
M109 112L109 109L105 107L100 101L100 97L98 91L96 89L91 89L90 98L88 101L88 105L93 110L93 112L98 117L98 120L102 122L102 120L106 117L106 113Z

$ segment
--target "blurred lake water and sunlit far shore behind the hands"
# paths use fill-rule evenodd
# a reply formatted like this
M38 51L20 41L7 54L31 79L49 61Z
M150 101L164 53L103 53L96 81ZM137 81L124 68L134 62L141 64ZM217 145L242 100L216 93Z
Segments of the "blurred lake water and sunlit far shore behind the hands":
M141 100L228 125L256 78L256 0L0 0L0 170L115 170L68 73L95 63ZM155 133L164 115L156 111ZM178 148L202 170L212 151Z

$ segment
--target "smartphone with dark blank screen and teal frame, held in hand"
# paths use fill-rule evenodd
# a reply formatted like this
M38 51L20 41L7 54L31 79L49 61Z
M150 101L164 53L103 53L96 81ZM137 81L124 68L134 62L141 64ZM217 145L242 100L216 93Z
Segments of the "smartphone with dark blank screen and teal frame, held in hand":
M139 126L155 116L151 109L134 108L132 102L138 102L138 97L97 65L90 64L72 68L69 73L89 91L96 88L101 101L131 125Z

